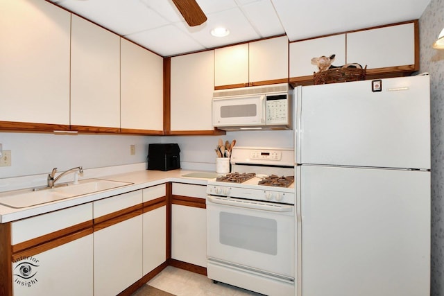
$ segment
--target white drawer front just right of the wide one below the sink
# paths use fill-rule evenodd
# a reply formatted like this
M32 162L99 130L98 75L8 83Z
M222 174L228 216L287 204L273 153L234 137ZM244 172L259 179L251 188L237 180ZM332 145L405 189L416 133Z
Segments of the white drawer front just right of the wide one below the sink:
M94 211L93 216L99 218L121 209L133 207L137 204L142 204L142 190L124 193L121 195L113 196L112 198L105 198L93 202Z

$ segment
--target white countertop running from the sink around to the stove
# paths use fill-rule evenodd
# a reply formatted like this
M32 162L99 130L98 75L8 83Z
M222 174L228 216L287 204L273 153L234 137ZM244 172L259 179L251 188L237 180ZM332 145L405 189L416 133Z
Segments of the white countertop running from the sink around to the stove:
M144 170L144 171L134 171L131 173L120 173L117 175L104 175L99 178L105 180L130 182L133 184L119 187L116 189L109 189L106 191L99 191L96 193L75 196L73 198L66 198L64 200L48 202L46 204L38 204L33 207L26 207L21 209L14 209L0 204L0 223L7 223L14 220L19 220L35 215L48 213L50 211L65 209L67 207L73 207L78 204L93 202L94 200L100 200L102 198L108 198L113 195L127 193L138 189L144 189L146 187L155 186L167 182L206 185L207 181L210 180L209 178L183 176L189 173L196 173L196 171L186 171L182 169L177 169L167 172ZM30 193L30 195L32 195L32 193Z

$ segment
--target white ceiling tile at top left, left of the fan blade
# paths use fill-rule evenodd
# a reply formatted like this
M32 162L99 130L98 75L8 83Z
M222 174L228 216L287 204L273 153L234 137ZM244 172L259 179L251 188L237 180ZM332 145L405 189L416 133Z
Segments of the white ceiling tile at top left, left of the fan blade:
M166 19L139 0L65 0L60 5L119 35L167 24Z

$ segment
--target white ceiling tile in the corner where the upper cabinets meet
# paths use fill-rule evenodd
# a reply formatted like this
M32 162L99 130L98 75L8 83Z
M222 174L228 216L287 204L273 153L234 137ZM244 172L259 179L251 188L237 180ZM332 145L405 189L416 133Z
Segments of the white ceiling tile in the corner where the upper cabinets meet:
M126 38L164 57L205 49L173 25L127 35Z

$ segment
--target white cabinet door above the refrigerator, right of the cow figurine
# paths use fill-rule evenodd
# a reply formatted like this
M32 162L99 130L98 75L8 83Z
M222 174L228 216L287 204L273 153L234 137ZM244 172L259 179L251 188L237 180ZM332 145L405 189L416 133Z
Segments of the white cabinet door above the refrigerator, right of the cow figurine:
M347 62L367 69L414 65L415 24L348 33Z

